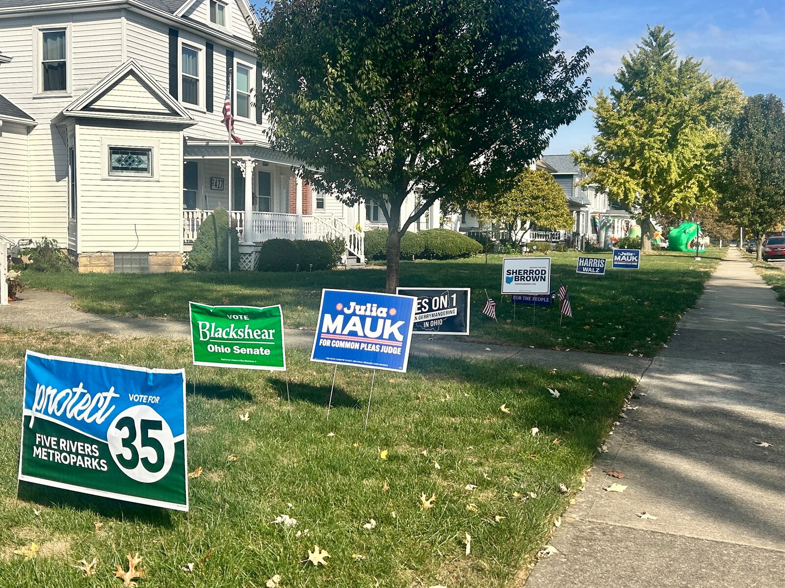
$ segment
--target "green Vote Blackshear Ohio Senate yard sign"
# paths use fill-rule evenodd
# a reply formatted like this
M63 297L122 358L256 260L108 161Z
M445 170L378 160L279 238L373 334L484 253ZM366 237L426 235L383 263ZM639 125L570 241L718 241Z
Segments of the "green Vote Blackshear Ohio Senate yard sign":
M280 304L264 308L190 305L194 365L286 370Z

